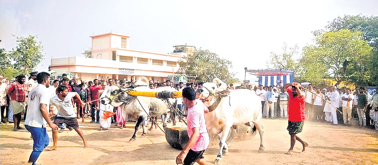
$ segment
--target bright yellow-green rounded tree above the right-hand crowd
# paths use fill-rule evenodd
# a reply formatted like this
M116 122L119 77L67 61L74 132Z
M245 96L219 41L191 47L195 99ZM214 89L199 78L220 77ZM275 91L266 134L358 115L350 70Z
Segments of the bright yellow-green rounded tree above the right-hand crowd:
M305 79L318 82L321 77L333 77L336 85L344 80L361 83L369 79L365 61L370 58L371 47L361 32L342 29L318 33L315 42L303 49Z

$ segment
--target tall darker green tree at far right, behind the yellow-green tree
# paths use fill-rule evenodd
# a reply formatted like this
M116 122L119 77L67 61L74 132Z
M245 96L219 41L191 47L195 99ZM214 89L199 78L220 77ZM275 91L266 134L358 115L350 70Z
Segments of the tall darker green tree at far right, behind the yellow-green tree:
M362 32L362 38L372 48L372 56L365 60L366 67L370 72L370 75L364 74L369 77L368 80L363 80L359 83L365 85L378 85L378 17L376 16L364 16L364 15L344 15L344 17L338 17L330 22L325 30L314 32L314 34L321 33L322 31L338 31L341 29L349 29L351 31ZM358 80L356 80L358 82Z

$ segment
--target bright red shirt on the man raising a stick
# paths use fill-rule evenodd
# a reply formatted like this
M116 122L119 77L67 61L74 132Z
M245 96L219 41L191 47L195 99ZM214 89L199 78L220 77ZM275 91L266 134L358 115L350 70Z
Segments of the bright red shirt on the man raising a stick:
M303 96L301 99L298 96L293 97L293 93L291 93L291 86L287 88L287 93L289 94L289 107L287 109L288 119L291 122L301 122L306 119L305 115L305 97Z

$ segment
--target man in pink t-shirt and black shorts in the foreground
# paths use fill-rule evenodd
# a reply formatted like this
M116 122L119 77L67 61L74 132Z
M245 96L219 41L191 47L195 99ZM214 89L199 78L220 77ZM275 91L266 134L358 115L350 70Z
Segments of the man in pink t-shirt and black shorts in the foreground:
M195 91L192 88L183 89L183 101L188 107L187 132L190 138L183 151L176 157L176 163L192 165L197 162L207 165L202 155L209 146L209 134L204 118L204 113L208 113L209 109L200 100L195 99Z

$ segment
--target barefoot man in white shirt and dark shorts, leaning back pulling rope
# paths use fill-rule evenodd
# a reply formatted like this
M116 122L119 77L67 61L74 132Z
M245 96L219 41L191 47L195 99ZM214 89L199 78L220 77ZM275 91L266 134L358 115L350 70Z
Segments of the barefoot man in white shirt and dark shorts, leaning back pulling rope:
M54 120L54 124L60 127L62 123L65 123L67 126L72 127L77 134L83 139L84 148L88 148L87 140L84 137L83 131L79 128L77 123L76 114L73 109L73 104L71 102L72 97L76 96L81 102L81 105L84 105L84 102L80 99L80 96L76 92L68 92L67 86L59 85L57 88L58 94L50 99L50 105L55 105L58 113ZM58 131L53 130L53 141L54 146L50 147L48 150L55 150L57 148L58 141Z

